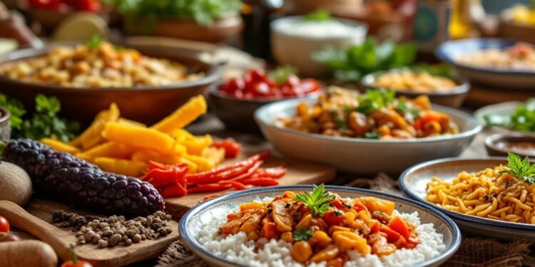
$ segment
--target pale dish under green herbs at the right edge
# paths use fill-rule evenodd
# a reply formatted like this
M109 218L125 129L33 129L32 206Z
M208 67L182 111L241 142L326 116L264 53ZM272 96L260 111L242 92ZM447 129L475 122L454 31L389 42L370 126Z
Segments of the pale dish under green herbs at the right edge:
M511 101L511 102L505 102L505 103L499 103L494 105L487 105L483 108L480 108L479 110L476 110L474 112L474 116L477 117L477 120L481 122L481 124L486 125L485 117L487 115L491 115L493 117L503 117L504 120L509 120L509 117L511 117L511 114L513 114L514 110L518 108L520 105L524 105L524 103ZM508 127L503 126L491 126L491 130L494 130L496 132L500 133L506 133L506 134L524 134L524 135L534 135L535 132L518 132L516 130L511 130Z

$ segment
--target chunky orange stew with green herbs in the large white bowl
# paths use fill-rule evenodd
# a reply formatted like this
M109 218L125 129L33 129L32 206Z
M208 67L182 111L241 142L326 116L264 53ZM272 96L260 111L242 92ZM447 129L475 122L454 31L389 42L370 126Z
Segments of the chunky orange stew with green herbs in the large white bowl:
M277 123L303 132L335 137L411 139L459 132L450 115L432 110L427 96L394 98L394 91L367 90L365 94L332 87L315 105L297 105L295 117Z

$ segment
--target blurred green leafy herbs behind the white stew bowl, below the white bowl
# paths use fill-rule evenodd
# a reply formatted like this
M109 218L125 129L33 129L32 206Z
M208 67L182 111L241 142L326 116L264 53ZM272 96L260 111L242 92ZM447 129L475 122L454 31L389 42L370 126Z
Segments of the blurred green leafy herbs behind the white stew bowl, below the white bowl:
M350 46L345 51L332 47L315 51L312 59L330 68L336 80L355 82L368 73L409 66L414 62L416 52L417 46L412 43L377 43L368 38L361 45Z

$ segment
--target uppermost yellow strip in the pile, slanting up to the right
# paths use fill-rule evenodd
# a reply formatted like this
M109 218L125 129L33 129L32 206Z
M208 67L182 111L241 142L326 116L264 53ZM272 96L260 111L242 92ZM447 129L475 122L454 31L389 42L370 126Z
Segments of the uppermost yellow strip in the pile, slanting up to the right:
M205 114L206 110L207 105L203 95L197 95L151 128L171 134L173 131L190 124L200 115Z

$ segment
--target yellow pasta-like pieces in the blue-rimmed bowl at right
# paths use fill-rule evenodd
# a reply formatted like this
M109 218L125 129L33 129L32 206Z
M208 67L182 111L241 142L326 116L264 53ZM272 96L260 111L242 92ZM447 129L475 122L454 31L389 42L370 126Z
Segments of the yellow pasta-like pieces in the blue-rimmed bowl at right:
M535 184L519 181L505 166L477 173L461 172L444 182L433 177L427 201L452 211L501 221L535 224Z

